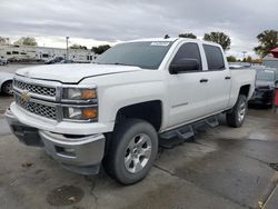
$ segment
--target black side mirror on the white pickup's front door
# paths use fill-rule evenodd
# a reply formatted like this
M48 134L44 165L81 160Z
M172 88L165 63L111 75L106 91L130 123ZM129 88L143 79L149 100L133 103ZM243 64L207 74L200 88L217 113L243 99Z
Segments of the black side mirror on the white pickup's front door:
M199 62L196 59L182 58L172 62L169 67L171 74L178 74L187 71L199 70Z

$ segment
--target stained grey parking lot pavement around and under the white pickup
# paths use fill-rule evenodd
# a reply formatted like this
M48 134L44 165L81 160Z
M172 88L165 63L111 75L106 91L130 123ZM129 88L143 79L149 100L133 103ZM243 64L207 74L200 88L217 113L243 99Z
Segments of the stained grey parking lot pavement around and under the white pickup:
M0 208L235 209L278 206L278 115L252 107L242 128L202 128L192 142L160 148L149 176L122 187L61 168L10 133L0 97Z

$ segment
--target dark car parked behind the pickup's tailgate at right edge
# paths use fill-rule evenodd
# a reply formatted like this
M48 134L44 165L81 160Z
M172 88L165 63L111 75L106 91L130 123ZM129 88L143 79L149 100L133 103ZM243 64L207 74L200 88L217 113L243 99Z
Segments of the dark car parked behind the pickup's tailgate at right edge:
M256 70L256 88L249 103L272 107L275 96L276 74L272 70Z

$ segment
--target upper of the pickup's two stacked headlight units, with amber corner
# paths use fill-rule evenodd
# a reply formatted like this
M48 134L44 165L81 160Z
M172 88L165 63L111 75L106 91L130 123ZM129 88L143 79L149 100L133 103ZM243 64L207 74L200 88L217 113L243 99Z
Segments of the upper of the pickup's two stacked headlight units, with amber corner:
M66 88L62 98L66 100L92 100L97 99L97 91L96 89Z

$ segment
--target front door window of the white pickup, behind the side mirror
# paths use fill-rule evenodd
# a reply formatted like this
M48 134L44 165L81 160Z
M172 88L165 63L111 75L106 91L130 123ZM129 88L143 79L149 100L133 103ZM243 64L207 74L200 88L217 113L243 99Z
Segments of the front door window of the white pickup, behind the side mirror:
M197 43L185 43L182 44L171 63L176 63L179 59L195 59L199 63L199 69L202 70L200 50Z

